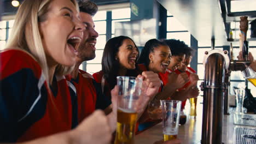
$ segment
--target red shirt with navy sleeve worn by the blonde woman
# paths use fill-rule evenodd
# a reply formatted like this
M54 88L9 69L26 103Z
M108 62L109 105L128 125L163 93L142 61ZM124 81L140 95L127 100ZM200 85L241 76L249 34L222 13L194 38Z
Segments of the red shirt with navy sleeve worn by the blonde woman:
M0 61L0 142L32 140L77 126L77 96L65 77L54 77L54 91L28 53L5 50Z

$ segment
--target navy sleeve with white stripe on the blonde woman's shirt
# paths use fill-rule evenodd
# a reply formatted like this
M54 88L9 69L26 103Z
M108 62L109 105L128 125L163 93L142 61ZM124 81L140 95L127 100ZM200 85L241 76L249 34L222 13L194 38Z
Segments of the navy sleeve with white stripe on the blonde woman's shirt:
M0 142L15 142L43 117L47 90L44 85L38 88L38 82L28 68L0 81Z

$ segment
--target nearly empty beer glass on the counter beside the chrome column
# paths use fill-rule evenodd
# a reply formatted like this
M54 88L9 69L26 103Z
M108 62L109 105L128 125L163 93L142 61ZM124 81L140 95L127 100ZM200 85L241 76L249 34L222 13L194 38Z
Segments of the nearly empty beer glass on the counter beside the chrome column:
M181 103L179 100L161 100L164 141L177 139Z

